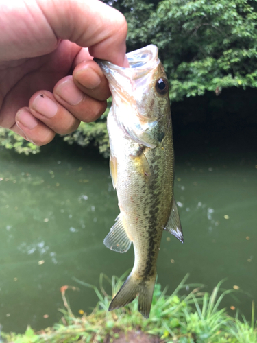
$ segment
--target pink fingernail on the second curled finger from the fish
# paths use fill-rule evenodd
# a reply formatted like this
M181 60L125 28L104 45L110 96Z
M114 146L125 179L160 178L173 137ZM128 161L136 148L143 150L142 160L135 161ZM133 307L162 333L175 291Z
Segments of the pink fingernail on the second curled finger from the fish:
M56 93L68 104L77 105L82 101L84 93L75 86L72 80L67 80L56 88Z

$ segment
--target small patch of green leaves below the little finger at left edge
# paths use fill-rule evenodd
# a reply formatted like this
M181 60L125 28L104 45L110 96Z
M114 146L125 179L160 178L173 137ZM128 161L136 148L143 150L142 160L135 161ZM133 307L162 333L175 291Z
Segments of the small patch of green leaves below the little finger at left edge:
M6 149L15 149L16 152L28 154L36 154L40 151L40 147L37 147L31 142L25 141L23 137L19 136L15 132L0 127L0 145Z

